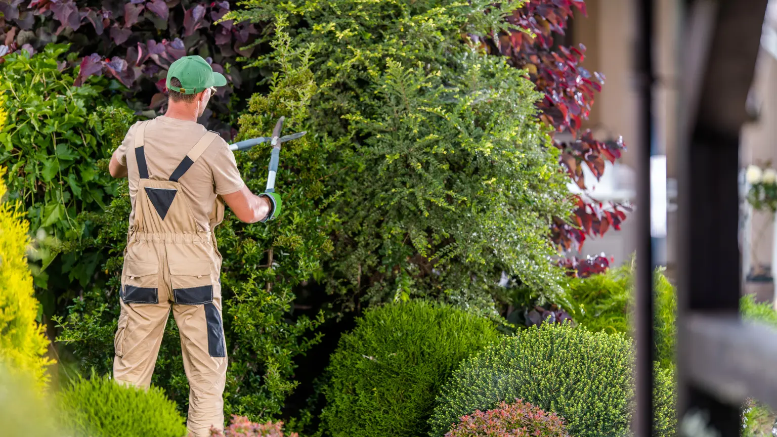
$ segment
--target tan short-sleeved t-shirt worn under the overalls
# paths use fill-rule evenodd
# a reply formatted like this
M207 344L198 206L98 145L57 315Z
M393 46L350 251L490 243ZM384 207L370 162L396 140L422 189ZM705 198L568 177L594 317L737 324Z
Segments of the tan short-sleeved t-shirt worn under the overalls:
M113 152L113 156L123 166L127 165L127 153L134 153L134 134L137 128L138 124L134 124L127 131L127 136L119 148ZM186 156L186 152L189 152L206 132L207 129L202 124L164 115L148 121L143 142L148 178L168 180ZM138 170L129 169L129 172L131 228L135 216L135 194L138 193ZM214 139L178 182L183 187L183 195L192 210L197 227L206 232L211 230L208 217L214 207L216 195L234 193L244 185L235 155L221 137Z

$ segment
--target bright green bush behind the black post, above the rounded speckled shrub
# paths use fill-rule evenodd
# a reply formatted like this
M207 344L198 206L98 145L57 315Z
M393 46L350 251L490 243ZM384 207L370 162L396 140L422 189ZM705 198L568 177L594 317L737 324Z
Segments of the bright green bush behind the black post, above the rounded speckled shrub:
M631 335L634 309L633 276L635 263L611 268L604 274L588 278L570 278L568 295L573 302L573 319L588 330ZM674 286L659 267L653 272L655 319L653 341L657 361L662 369L674 369L674 324L677 299Z

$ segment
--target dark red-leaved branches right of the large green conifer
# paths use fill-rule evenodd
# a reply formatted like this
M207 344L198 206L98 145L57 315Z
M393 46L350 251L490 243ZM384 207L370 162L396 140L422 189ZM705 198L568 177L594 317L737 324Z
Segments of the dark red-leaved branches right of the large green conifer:
M498 35L497 44L486 44L493 54L510 58L516 68L524 68L537 89L545 93L538 103L541 118L557 132L568 132L573 142L554 139L561 151L560 163L580 189L585 190L583 166L588 166L597 179L625 149L622 138L601 142L590 130L581 131L582 121L591 113L594 96L601 91L605 76L588 72L580 63L585 46L554 47L553 37L563 35L567 20L577 8L586 14L584 0L529 0L507 17L515 30ZM528 29L531 37L519 30ZM562 252L580 250L586 236L601 236L608 229L618 229L628 209L615 205L605 211L601 205L586 203L577 196L571 218L556 218L552 225L552 242ZM573 225L570 225L572 223Z

